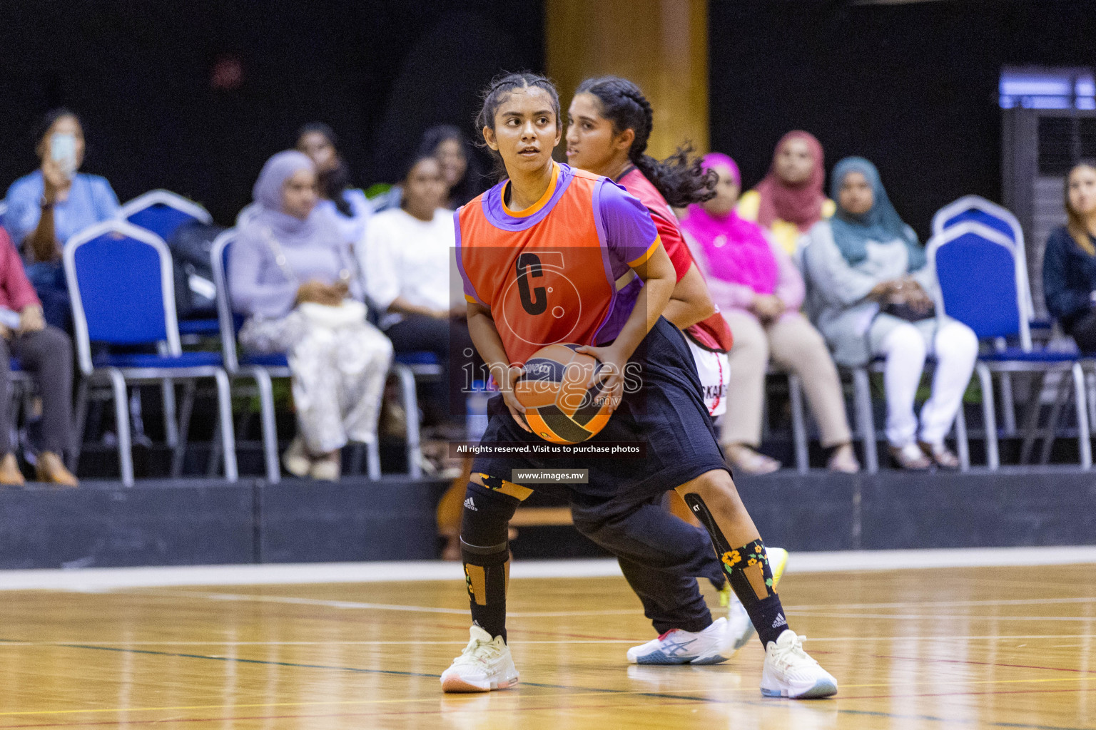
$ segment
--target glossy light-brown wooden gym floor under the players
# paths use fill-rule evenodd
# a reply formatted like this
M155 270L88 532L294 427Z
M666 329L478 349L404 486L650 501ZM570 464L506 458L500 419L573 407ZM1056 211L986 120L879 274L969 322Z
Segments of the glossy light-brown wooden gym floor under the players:
M0 593L0 729L1096 728L1096 566L795 573L836 699L764 699L762 650L629 667L623 578L515 579L523 684L439 692L458 581ZM713 601L712 601L713 602Z

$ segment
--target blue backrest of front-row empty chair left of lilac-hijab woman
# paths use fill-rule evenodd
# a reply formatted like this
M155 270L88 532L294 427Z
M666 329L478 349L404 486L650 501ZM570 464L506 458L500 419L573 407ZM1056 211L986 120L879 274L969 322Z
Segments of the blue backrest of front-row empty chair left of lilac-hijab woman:
M64 259L84 373L92 370L93 341L163 343L165 355L182 352L171 252L163 239L123 220L109 220L66 241Z

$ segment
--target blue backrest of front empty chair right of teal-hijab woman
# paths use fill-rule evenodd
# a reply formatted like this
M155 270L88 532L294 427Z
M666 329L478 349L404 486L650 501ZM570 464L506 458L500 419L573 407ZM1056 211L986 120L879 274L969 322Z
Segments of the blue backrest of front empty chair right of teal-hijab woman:
M1018 336L1031 349L1023 250L1000 230L977 221L946 228L928 241L927 255L940 283L944 313L981 339Z

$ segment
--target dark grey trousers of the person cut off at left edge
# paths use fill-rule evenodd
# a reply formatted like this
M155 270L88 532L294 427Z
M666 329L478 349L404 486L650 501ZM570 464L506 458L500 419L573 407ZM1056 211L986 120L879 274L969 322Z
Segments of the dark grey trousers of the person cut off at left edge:
M11 453L11 357L31 373L42 394L43 448L56 454L72 449L72 343L64 332L45 329L0 338L0 454Z

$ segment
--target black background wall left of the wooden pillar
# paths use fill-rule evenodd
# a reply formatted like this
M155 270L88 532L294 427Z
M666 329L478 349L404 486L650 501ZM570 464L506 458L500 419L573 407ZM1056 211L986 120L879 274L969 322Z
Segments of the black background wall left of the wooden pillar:
M499 69L543 66L539 0L35 0L0 22L0 194L36 166L31 132L67 105L84 170L126 199L167 187L231 222L264 160L321 119L358 184L391 181L422 131L471 131ZM236 88L212 84L238 61Z

